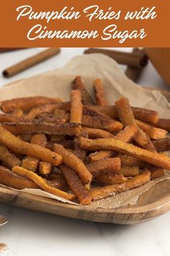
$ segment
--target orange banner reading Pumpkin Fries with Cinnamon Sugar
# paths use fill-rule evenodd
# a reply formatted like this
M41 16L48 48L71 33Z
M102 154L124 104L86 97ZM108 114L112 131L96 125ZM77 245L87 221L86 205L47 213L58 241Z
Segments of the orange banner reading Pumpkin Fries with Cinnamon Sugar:
M0 47L170 47L167 0L6 0L0 7Z

